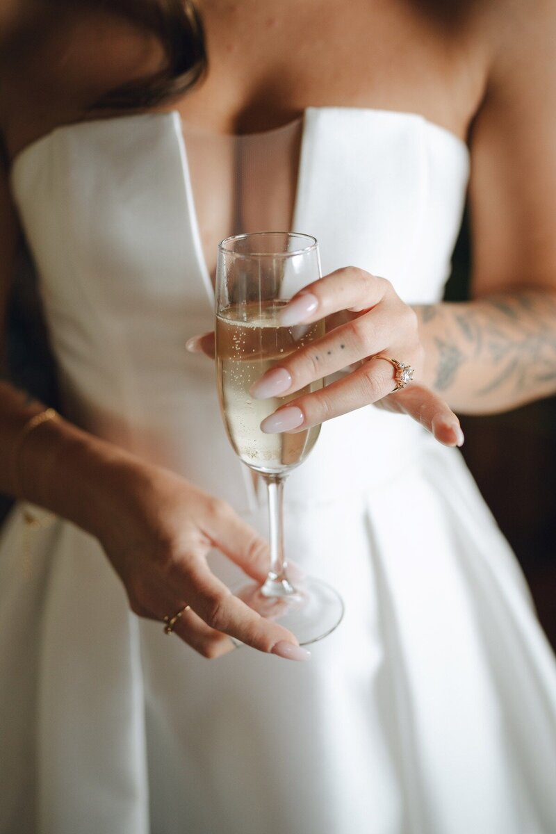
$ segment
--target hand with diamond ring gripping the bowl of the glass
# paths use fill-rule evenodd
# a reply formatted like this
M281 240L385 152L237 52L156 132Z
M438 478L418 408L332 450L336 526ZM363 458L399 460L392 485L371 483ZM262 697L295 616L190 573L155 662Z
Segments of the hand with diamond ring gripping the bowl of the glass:
M268 370L251 393L257 399L285 396L338 371L351 372L281 406L263 420L263 431L302 431L363 405L376 404L409 414L444 445L463 444L456 415L418 381L424 361L417 315L389 281L356 267L338 269L301 289L280 314L281 323L288 326L319 319L326 319L326 335ZM209 352L210 342L208 334L192 340L190 349ZM397 369L384 357L411 366L417 381L394 392Z

